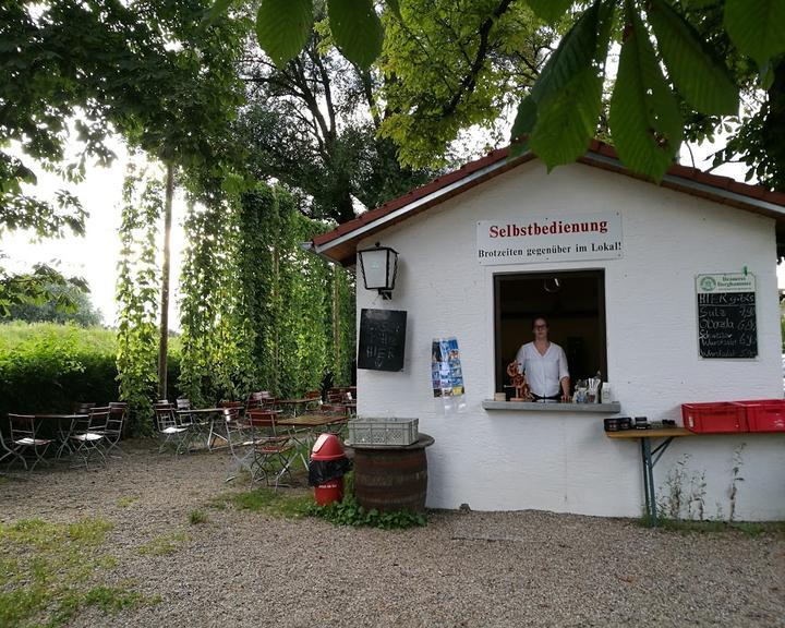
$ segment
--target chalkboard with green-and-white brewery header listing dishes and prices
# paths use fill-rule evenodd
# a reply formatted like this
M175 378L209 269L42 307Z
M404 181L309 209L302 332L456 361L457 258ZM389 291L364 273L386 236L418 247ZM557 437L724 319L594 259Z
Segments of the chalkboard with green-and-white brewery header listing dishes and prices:
M754 276L748 273L699 275L696 288L701 358L757 357Z

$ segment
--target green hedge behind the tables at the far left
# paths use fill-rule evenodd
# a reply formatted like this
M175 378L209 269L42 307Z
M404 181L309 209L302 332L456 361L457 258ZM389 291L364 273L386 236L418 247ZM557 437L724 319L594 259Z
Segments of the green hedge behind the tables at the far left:
M171 345L169 382L176 384L179 345ZM0 416L69 412L77 401L117 401L116 354L113 329L52 323L0 325ZM177 395L170 386L169 397Z

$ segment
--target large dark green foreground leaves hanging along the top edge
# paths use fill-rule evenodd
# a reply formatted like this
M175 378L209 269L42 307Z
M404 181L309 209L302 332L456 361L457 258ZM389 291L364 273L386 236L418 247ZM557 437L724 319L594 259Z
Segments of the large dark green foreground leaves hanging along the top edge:
M486 37L523 2L498 0L487 4L493 7L492 20L480 23L480 34ZM527 4L546 23L567 16L573 25L531 88L514 94L519 106L512 138L519 140L519 150L531 148L550 168L582 155L597 133L603 88L613 80L607 117L613 143L629 168L659 181L675 159L685 126L696 113L738 114L737 75L715 45L717 38L726 37L738 53L757 64L759 85L766 90L759 111L750 123L741 124L729 149L738 150L757 173L763 174L764 183L782 188L783 149L778 141L785 130L785 0L528 0ZM347 59L367 68L379 59L383 41L398 29L411 27L418 19L419 13L409 12L413 5L420 3L388 0L385 15L392 25L385 33L372 0L328 1L333 37ZM722 14L713 37L699 32L703 12ZM304 44L302 34L312 22L309 0L262 0L256 25L259 44L277 63L286 63ZM483 28L485 24L488 26ZM621 53L614 75L608 59L615 43ZM379 63L384 63L383 57ZM458 100L462 97L457 95ZM683 111L688 113L687 119ZM762 129L768 136L760 132ZM403 155L407 147L404 143Z

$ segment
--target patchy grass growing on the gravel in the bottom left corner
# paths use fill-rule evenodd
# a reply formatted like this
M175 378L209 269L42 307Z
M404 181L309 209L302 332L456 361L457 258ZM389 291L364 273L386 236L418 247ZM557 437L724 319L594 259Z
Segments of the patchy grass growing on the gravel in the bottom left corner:
M132 590L94 584L117 564L102 551L111 529L102 519L0 523L0 626L53 628L88 606L113 614L142 603Z

